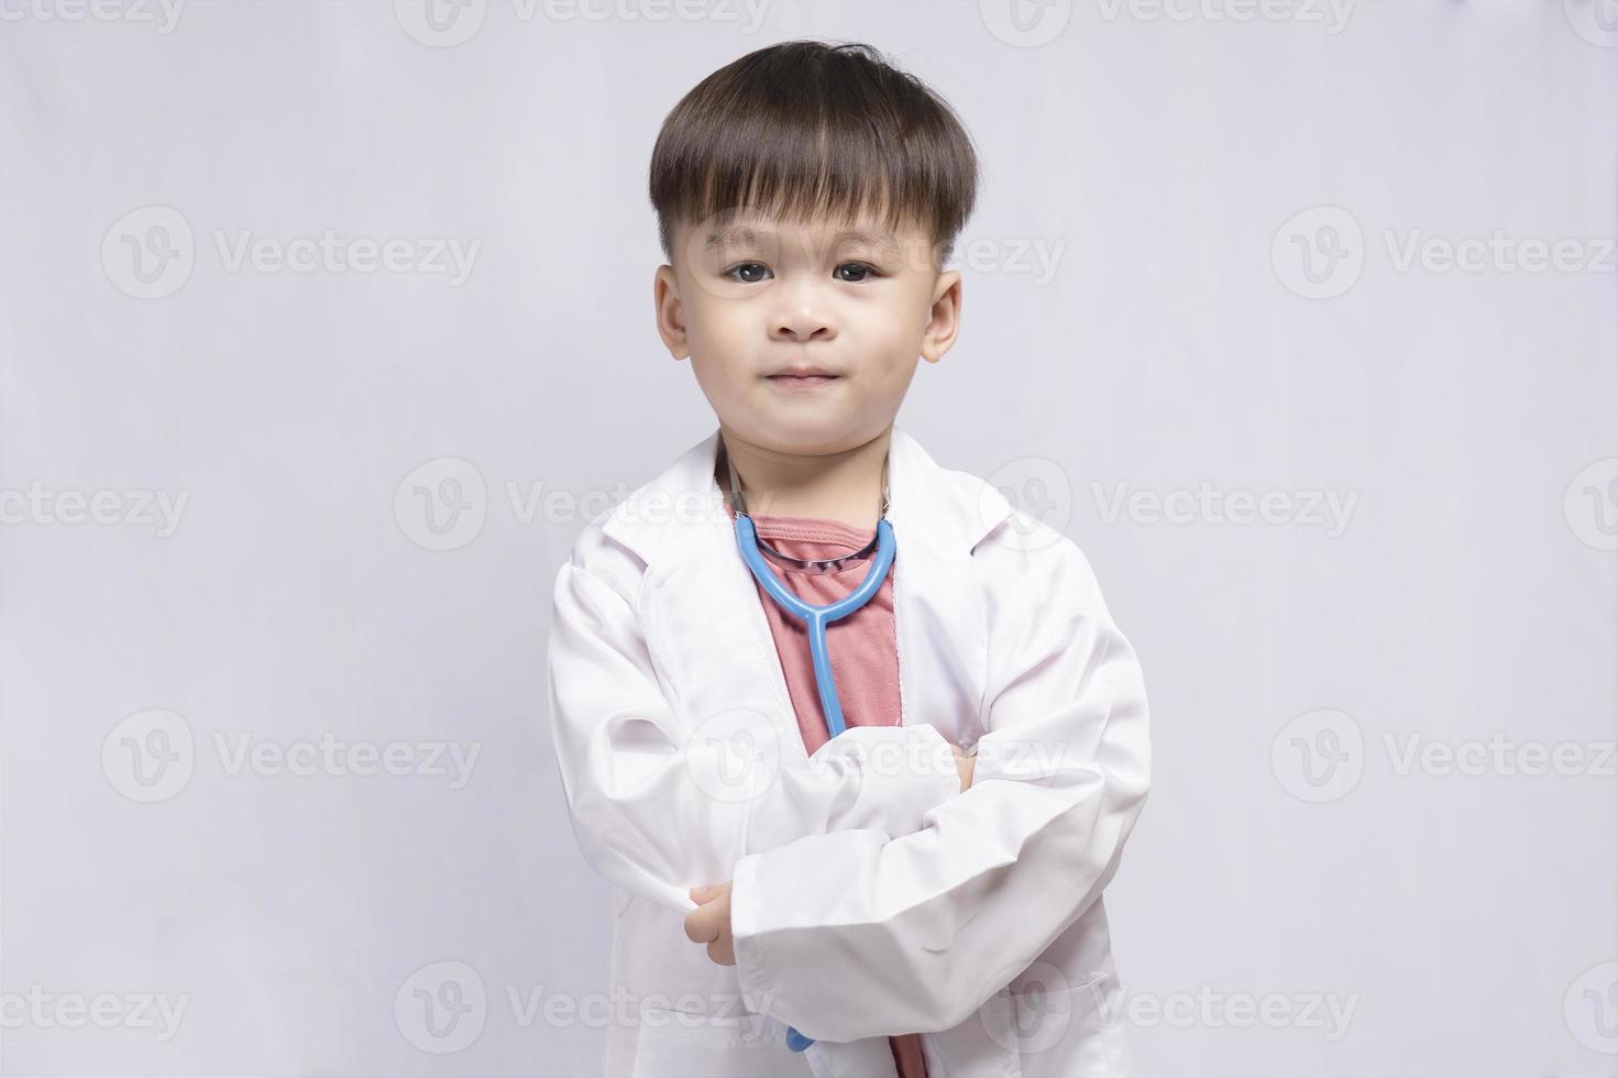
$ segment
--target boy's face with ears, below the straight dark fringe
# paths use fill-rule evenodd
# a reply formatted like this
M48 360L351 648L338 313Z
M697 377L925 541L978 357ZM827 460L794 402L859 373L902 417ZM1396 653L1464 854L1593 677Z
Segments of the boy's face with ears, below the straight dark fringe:
M961 275L921 228L748 217L683 223L655 278L657 329L720 422L781 453L862 445L898 414L917 356L955 343ZM791 380L793 369L830 377Z

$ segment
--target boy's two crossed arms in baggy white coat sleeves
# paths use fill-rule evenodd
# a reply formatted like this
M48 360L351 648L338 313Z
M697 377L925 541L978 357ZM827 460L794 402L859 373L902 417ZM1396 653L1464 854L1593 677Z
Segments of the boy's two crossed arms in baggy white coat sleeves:
M882 741L942 753L934 727L854 727L815 754L830 766L783 766L743 803L693 782L725 746L683 741L629 599L578 563L558 575L552 720L586 858L686 913L744 1005L812 1039L964 1021L1100 897L1144 804L1141 670L1089 562L1005 536L974 558L998 594L971 783L953 753L870 767ZM843 991L896 978L903 992Z

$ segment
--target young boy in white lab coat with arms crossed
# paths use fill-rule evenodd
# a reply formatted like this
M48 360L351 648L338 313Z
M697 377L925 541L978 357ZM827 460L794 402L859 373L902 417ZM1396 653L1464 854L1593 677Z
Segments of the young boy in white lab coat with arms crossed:
M895 424L955 343L976 186L864 45L760 49L663 123L657 327L718 429L589 523L549 649L613 884L607 1075L1129 1070L1102 889L1139 665L1069 539Z

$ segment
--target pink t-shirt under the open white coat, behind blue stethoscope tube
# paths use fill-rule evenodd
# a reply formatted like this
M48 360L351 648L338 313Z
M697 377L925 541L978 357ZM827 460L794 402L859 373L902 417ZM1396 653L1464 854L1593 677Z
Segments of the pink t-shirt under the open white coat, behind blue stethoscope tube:
M725 511L735 521L730 505ZM851 524L825 516L780 516L752 513L752 526L759 539L781 554L794 558L819 560L853 554L867 542L870 533L861 533ZM849 562L835 573L806 573L764 563L786 588L815 605L837 602L854 591L870 568L870 555ZM825 630L825 647L832 657L832 673L837 680L837 699L843 707L848 727L893 727L900 722L900 656L893 636L893 575L900 571L898 558L888 570L877 594L845 618L832 622ZM770 599L764 584L752 581L764 604L775 651L781 657L786 675L786 691L798 714L798 730L804 748L814 754L830 738L825 715L820 711L820 693L814 683L814 657L809 651L809 630L796 615L788 613ZM921 1054L921 1034L906 1033L888 1038L893 1063L900 1078L927 1078L927 1063Z

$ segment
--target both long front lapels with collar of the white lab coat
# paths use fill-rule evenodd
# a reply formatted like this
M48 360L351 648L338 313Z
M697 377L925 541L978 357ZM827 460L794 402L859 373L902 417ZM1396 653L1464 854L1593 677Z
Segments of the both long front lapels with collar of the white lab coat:
M647 563L641 617L676 709L693 724L754 712L777 759L803 758L775 641L714 481L717 448L714 431L620 507L628 511L607 531ZM903 722L974 741L989 641L972 547L1011 507L976 476L942 469L896 424L888 453Z

